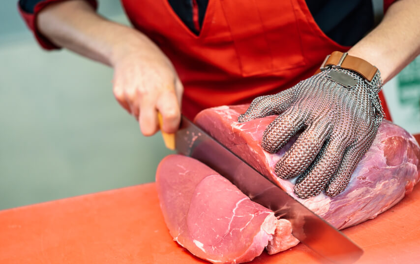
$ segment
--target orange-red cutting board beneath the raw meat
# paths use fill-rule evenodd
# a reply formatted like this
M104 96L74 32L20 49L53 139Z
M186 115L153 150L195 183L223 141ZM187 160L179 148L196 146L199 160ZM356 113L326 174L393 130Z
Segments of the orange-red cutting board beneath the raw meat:
M420 263L420 188L376 219L343 231L358 263ZM166 229L154 183L0 211L1 264L207 263ZM252 264L321 263L304 245Z

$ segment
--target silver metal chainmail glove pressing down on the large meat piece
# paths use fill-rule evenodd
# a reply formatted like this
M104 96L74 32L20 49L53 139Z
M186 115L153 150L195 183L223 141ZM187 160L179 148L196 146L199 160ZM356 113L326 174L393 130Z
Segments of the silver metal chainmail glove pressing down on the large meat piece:
M353 79L354 87L331 78L343 74ZM356 72L329 68L276 95L254 99L238 121L280 114L263 135L262 147L270 153L303 131L275 173L282 179L299 176L295 193L300 198L323 190L336 196L347 187L384 118L381 87L379 71L368 84Z

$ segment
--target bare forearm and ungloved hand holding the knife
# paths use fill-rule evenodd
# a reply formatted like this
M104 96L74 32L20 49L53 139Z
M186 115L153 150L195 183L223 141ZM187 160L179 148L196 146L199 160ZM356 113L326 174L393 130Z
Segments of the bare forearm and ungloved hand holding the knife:
M54 44L114 68L114 95L140 123L143 134L165 132L180 122L182 84L169 59L144 34L108 21L83 0L67 0L43 9L40 33Z

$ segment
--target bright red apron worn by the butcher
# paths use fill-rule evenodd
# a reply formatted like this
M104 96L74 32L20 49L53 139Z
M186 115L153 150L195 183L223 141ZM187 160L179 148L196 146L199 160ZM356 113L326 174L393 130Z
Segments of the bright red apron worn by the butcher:
M246 2L246 4L245 4ZM347 51L315 23L304 0L209 0L200 34L168 0L122 0L134 27L174 64L184 85L182 113L250 102L313 75L326 55ZM390 117L381 93L387 117Z

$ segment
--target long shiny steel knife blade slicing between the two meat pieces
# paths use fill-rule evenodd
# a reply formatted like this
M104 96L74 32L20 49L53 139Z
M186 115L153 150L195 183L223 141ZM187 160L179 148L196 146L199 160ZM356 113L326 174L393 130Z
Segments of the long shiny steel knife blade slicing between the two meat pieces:
M253 201L289 220L293 235L326 260L337 264L357 261L363 250L325 220L244 162L186 117L175 133L178 153L208 165Z

